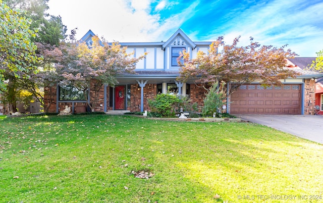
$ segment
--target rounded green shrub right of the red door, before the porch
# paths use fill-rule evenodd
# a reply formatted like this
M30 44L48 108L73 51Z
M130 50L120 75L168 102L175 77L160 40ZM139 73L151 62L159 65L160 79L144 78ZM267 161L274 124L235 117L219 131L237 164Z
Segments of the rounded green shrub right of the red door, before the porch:
M180 99L174 94L157 94L154 99L148 99L148 105L152 113L163 117L174 117Z

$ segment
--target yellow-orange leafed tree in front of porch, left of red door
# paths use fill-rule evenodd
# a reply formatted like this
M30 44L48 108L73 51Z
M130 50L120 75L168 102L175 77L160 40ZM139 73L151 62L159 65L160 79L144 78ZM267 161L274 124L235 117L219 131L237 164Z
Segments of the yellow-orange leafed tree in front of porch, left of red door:
M94 94L89 96L87 105L92 112L103 85L114 87L118 84L116 76L125 72L134 73L136 63L146 55L134 58L134 53L127 53L127 47L121 47L118 42L110 45L97 36L92 37L91 46L85 42L68 43L62 50L65 57L62 63L56 65L64 77L60 85L72 84L83 92L85 98L88 98L91 88Z

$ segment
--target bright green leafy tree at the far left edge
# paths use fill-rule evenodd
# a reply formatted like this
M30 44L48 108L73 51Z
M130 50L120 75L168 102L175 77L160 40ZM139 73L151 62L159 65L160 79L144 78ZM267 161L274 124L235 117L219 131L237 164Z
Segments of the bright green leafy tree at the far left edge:
M11 9L0 0L0 88L6 90L5 79L28 77L36 72L40 58L35 54L37 46L31 41L35 32L30 29L31 20L23 12ZM7 77L6 77L7 76Z

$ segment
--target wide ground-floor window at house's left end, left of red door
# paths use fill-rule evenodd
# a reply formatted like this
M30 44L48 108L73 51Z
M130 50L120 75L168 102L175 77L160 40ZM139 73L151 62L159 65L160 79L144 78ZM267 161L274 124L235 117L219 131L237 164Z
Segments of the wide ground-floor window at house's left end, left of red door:
M73 85L60 86L60 100L86 100L83 91Z

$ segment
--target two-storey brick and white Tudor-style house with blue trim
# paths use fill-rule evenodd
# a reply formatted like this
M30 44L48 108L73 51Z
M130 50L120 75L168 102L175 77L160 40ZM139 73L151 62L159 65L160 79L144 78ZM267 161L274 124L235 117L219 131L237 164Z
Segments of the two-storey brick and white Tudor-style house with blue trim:
M90 44L94 33L89 30L81 39ZM160 42L120 42L127 46L129 52L135 56L148 53L146 58L136 65L137 74L125 74L117 77L119 84L115 87L104 85L99 92L99 101L95 111L149 111L147 99L153 98L157 93L177 91L178 94L187 94L192 103L203 105L205 89L198 87L193 81L183 83L177 81L179 66L177 58L179 52L185 48L191 58L195 58L198 50L207 53L211 41L192 41L181 29L178 29L167 41ZM293 68L296 70L296 68ZM283 87L263 88L260 83L243 85L231 95L227 103L227 112L231 114L314 114L309 100L315 99L315 80L322 74L306 72L296 79L283 80ZM95 81L93 81L95 82ZM90 96L91 88L90 85ZM85 111L85 100L80 96L69 96L72 90L60 87L56 98L52 101L49 112L59 112L70 106L75 112ZM56 92L56 91L52 91ZM73 94L77 94L74 92ZM45 91L45 100L49 99ZM82 110L79 110L82 109Z

